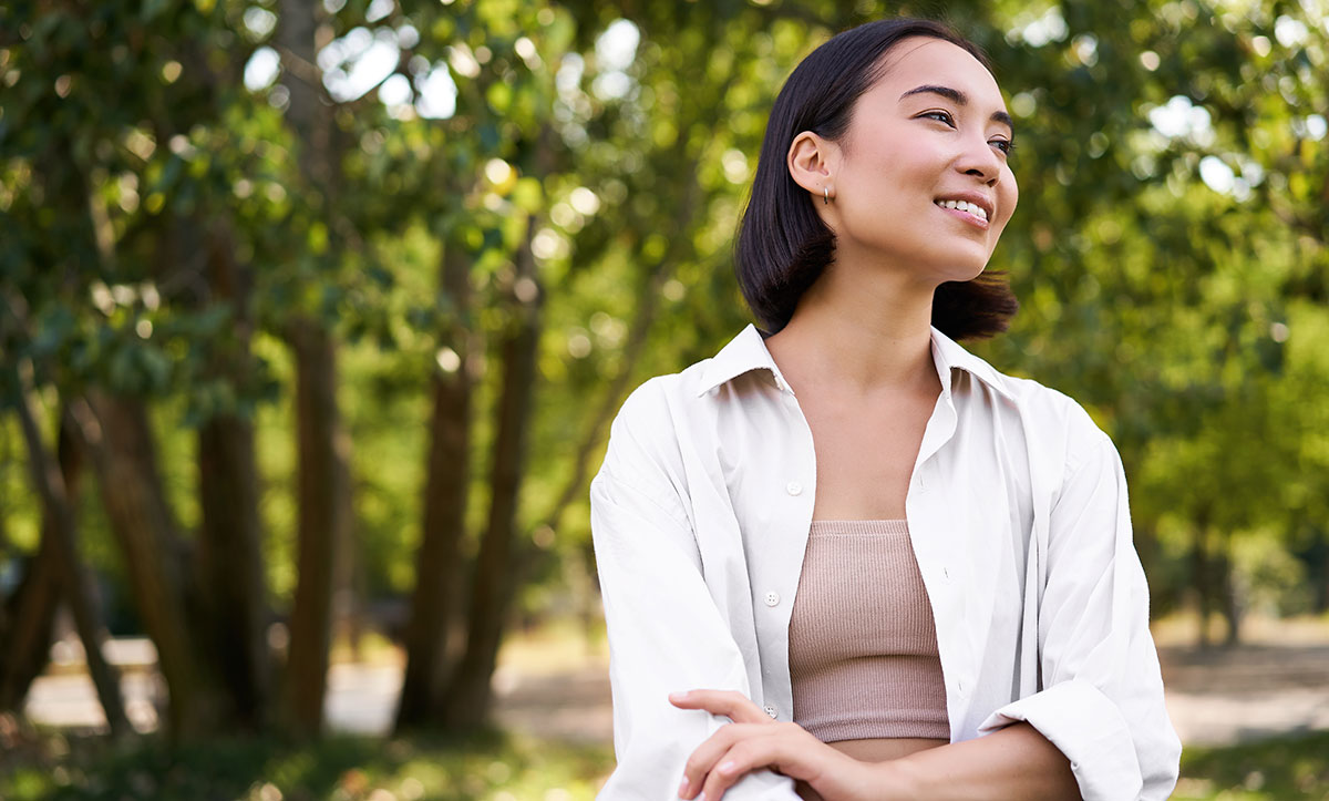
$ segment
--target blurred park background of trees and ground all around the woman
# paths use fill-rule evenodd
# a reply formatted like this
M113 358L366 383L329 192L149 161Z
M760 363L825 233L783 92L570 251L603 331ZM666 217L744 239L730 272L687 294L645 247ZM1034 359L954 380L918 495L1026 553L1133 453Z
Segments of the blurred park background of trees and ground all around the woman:
M1120 448L1177 797L1329 794L1324 0L11 0L0 797L590 798L607 424L896 13L1006 92L973 349Z

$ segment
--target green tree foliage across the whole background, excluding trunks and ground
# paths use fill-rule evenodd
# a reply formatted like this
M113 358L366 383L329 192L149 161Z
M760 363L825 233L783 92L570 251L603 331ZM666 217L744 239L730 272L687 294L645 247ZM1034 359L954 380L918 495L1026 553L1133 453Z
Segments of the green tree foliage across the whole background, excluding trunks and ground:
M884 13L944 15L993 57L1023 196L993 269L1023 309L975 347L1112 434L1155 607L1213 589L1211 567L1252 603L1329 603L1314 589L1329 587L1329 407L1306 402L1329 389L1321 0L323 8L314 65L272 49L267 0L0 8L0 307L24 313L0 319L3 358L31 359L52 400L89 386L150 399L186 528L193 427L256 419L279 609L295 585L291 318L348 343L360 588L400 596L416 580L429 382L459 369L460 322L478 343L484 466L526 220L548 299L520 512L541 591L525 597L566 608L573 584L594 604L583 499L605 420L746 322L730 242L767 109L803 55ZM354 96L380 44L395 63ZM300 177L295 80L332 109L335 192ZM251 307L201 293L207 247L246 267ZM439 285L448 247L472 262L466 315ZM254 369L219 373L246 314ZM0 387L0 407L12 397ZM0 419L8 554L39 530L17 452ZM473 475L469 551L490 492ZM97 512L82 520L96 567L122 575Z

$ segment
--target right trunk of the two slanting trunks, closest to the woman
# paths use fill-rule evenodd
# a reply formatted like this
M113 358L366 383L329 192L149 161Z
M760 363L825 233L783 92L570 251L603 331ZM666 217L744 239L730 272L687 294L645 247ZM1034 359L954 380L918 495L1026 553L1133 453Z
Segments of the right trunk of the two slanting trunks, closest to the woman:
M513 592L520 585L520 579L514 575L514 530L530 427L542 303L536 262L530 253L530 237L536 226L537 222L532 218L525 242L516 254L516 319L514 329L501 346L502 390L496 414L489 478L489 523L476 559L466 649L444 703L444 725L451 729L473 729L485 722L492 701L490 679L498 659L498 644Z

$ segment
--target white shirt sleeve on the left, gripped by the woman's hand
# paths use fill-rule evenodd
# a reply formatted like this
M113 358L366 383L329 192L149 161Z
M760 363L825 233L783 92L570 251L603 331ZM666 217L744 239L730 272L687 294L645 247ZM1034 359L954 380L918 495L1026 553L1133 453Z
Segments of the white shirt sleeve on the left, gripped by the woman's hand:
M679 709L668 693L752 693L678 491L630 435L615 434L590 490L618 758L599 798L675 800L687 757L730 720ZM748 773L724 797L797 801L793 781L771 770Z

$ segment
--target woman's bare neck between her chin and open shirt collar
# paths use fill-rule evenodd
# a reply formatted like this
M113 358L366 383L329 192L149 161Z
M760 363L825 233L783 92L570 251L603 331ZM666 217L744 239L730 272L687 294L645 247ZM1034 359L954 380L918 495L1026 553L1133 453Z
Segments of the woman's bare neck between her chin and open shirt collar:
M795 391L801 382L864 395L940 390L933 291L905 270L860 270L837 258L767 347Z

